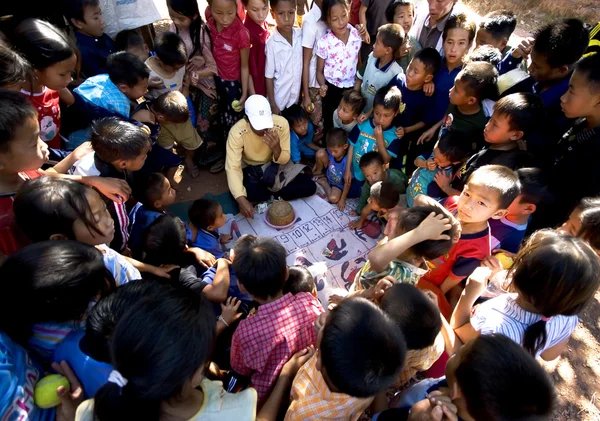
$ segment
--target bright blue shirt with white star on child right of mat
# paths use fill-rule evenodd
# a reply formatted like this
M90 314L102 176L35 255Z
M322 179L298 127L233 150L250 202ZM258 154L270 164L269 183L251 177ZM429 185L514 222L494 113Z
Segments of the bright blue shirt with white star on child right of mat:
M358 181L364 181L365 176L358 165L360 158L367 152L379 151L377 141L375 140L375 125L373 119L369 119L361 124L358 124L348 136L350 145L354 147L354 155L352 156L352 173ZM400 141L396 137L396 128L388 127L383 131L383 142L385 143L388 153L392 158L398 157L398 149Z

